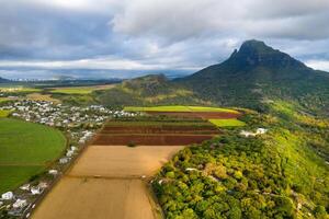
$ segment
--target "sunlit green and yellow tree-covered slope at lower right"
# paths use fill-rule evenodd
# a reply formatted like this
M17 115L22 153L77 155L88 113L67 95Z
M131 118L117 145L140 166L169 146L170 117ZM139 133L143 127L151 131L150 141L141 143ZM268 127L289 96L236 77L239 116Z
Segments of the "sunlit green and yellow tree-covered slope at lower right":
M269 107L268 115L241 118L243 129L268 134L245 138L241 128L223 130L161 169L152 185L167 218L328 217L328 122L302 114L297 104Z

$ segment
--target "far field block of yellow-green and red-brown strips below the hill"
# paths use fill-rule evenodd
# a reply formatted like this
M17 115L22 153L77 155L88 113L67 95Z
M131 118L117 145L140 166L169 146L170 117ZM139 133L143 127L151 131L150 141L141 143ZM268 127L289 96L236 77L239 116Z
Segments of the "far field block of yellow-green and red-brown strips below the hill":
M144 112L148 115L166 115L190 118L202 118L208 120L217 127L243 126L243 122L238 120L241 113L236 110L205 106L155 106L155 107L135 107L128 106L124 111Z

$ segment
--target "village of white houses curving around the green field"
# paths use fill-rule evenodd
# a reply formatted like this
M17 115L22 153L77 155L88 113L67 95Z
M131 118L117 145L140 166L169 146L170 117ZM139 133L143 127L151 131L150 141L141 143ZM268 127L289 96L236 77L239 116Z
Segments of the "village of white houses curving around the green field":
M70 106L54 104L47 101L21 100L8 102L0 111L10 111L11 117L37 123L61 130L68 138L68 146L60 157L37 180L21 185L14 191L5 192L0 196L0 218L30 217L35 203L65 172L79 150L93 137L93 134L105 120L113 117L131 117L136 113L110 110L102 105Z

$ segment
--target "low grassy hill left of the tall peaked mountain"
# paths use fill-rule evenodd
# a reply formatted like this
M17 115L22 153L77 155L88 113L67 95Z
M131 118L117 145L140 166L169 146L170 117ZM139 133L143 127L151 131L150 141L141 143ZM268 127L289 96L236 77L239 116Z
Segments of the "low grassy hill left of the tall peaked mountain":
M163 74L125 80L93 97L103 105L206 104L190 90L172 83Z

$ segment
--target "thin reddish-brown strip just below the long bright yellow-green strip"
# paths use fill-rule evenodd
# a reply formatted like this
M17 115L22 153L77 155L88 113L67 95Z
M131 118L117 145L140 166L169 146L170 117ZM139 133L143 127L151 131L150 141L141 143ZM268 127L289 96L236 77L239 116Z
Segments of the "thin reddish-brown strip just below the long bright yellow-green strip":
M149 115L166 115L190 118L238 118L241 114L226 112L146 112Z

